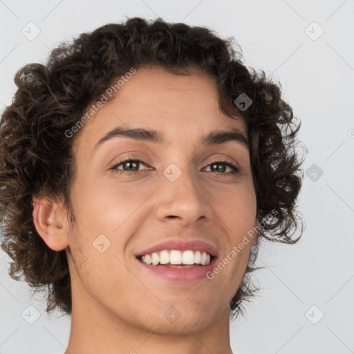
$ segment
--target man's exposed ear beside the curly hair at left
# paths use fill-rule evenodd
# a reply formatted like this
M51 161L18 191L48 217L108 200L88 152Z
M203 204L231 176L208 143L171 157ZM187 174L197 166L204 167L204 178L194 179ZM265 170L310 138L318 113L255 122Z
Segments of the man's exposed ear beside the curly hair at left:
M33 223L43 241L54 251L68 247L68 220L62 212L62 204L47 197L32 198Z

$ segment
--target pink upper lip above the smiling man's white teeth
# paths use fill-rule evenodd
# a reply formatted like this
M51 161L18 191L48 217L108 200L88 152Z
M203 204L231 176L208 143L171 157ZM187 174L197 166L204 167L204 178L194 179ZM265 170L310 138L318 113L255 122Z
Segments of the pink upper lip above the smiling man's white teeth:
M160 252L163 250L180 250L180 251L192 250L192 251L207 252L213 257L218 256L218 252L216 251L216 248L210 243L206 243L205 241L201 241L197 239L192 239L192 240L171 239L153 245L150 248L147 248L146 250L143 250L141 252L138 252L136 254L136 257L140 257L145 254L151 254L153 252Z

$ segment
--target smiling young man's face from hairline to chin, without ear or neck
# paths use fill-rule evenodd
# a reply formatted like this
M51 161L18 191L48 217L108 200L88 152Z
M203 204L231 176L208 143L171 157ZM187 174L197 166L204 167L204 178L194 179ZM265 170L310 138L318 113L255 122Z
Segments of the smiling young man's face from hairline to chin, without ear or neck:
M165 145L115 136L96 146L117 127L158 131ZM229 304L257 236L236 257L230 252L257 223L256 196L248 147L236 140L201 145L201 138L234 128L247 137L242 118L219 111L213 77L174 75L162 68L139 69L86 123L74 149L71 199L77 230L68 232L66 249L73 316L86 312L95 325L105 317L169 334L203 330L225 318L228 324ZM141 162L118 165L128 157ZM203 241L218 258L212 267L183 270L137 259L171 240ZM185 250L198 247L203 251L201 245ZM164 249L180 248L159 250ZM208 279L207 270L227 254L231 261Z

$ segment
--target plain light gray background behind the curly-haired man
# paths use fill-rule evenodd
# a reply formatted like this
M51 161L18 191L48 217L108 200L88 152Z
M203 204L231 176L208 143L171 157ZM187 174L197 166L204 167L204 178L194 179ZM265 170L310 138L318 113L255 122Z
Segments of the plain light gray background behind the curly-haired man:
M353 14L354 0L0 1L0 109L12 100L21 66L44 63L59 41L120 23L124 15L159 16L234 36L246 65L281 82L284 99L302 120L299 138L308 147L310 170L299 199L304 235L295 245L263 243L258 264L267 268L254 275L262 290L247 318L231 325L232 349L354 353ZM29 21L41 30L32 41L21 33ZM316 25L308 28L313 21L324 29L317 40L309 37L319 34ZM29 288L8 277L6 254L0 257L0 353L63 352L70 318L57 313L48 319L44 300L30 299ZM40 314L32 325L21 317L30 305ZM320 311L324 317L311 323Z

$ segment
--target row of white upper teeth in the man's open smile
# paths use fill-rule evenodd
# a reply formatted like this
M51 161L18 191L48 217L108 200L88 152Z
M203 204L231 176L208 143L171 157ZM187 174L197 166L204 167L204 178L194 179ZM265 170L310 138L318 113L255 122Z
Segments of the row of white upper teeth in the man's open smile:
M210 263L210 254L201 251L187 250L180 252L178 250L163 250L161 252L153 252L152 254L145 254L142 256L143 263L157 265L157 264L202 264Z

